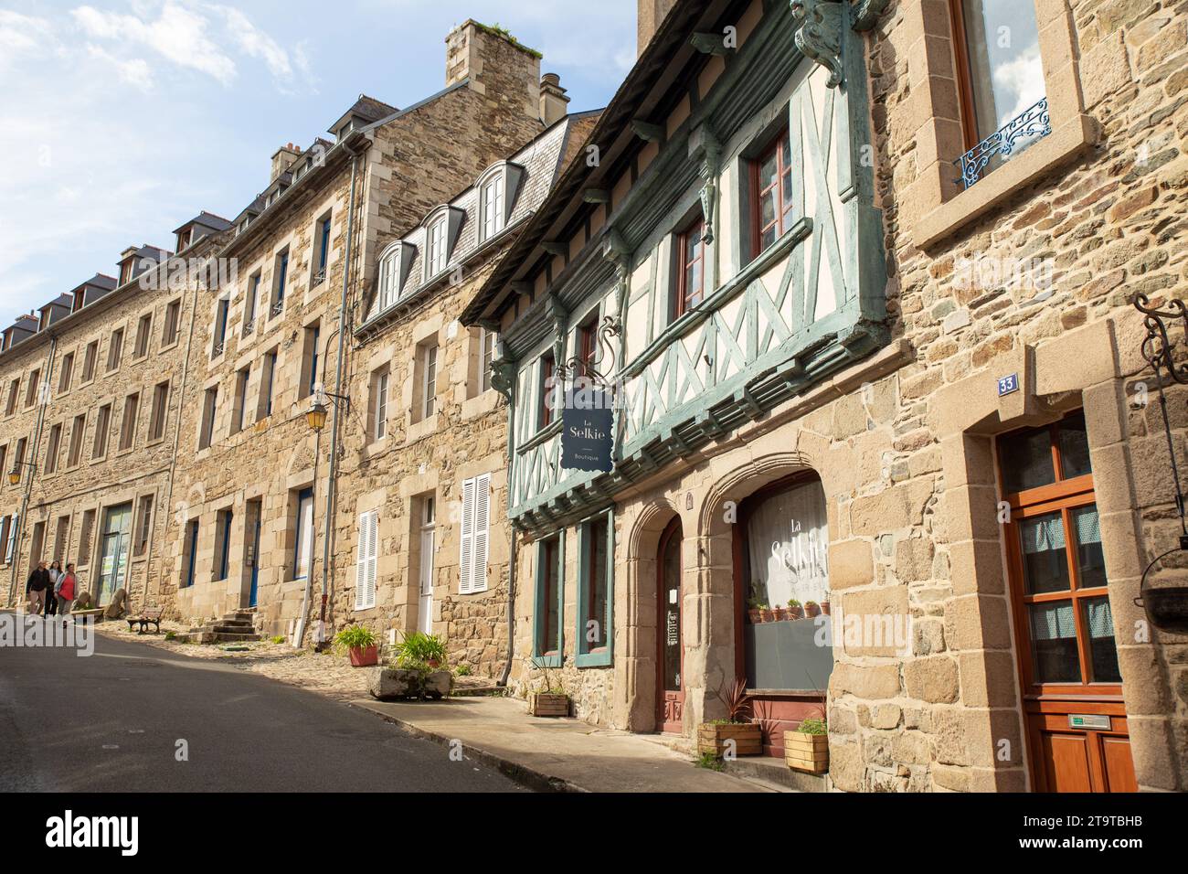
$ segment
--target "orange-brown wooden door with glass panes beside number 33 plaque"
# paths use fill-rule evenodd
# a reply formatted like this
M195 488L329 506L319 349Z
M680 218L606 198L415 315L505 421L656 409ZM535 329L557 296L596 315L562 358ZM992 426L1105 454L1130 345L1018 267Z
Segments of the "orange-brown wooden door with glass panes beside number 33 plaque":
M1032 785L1135 792L1085 417L999 440Z

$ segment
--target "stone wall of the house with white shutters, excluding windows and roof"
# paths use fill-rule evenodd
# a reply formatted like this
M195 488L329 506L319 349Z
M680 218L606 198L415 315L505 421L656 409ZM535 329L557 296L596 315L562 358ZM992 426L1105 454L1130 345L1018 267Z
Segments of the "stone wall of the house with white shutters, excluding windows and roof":
M499 678L507 661L507 407L479 384L480 333L457 317L491 272L503 247L485 256L457 285L444 284L378 335L358 342L348 363L348 394L358 411L346 422L340 467L331 620L373 630L418 628L422 505L436 503L432 633L453 665ZM436 411L413 421L417 350L437 344ZM388 372L387 435L373 439L372 375ZM491 474L486 591L461 595L462 482ZM360 514L379 513L375 608L355 611Z

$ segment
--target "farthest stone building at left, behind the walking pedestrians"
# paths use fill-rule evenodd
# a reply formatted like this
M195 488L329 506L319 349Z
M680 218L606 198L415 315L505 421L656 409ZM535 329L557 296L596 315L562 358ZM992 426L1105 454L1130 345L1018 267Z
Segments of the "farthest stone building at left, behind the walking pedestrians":
M177 458L191 282L229 222L201 213L177 254L132 246L118 277L96 273L4 332L0 555L6 603L39 560L75 562L82 591L134 606L162 597ZM11 484L10 479L18 482Z

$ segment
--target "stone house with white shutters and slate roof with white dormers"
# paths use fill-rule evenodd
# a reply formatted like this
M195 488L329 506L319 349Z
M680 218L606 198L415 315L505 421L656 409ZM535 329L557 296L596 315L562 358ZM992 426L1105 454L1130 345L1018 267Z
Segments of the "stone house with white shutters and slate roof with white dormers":
M345 388L330 618L435 634L488 677L508 661L507 411L495 333L457 317L596 119L544 86L543 133L379 250Z

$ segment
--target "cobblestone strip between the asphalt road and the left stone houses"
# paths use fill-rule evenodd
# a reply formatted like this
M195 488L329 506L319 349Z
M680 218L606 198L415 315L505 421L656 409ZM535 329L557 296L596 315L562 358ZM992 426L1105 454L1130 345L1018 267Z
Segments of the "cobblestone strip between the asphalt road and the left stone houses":
M137 634L129 631L126 623L118 624L115 622L100 622L95 625L95 630L108 637L148 643L192 659L219 659L241 671L263 674L273 680L318 692L337 700L347 702L368 697L368 672L352 667L350 660L346 655L329 652L318 654L312 649L293 649L289 643L274 643L271 640L254 643L179 643L166 640L166 635L170 631L183 634L189 628L175 622L162 622L160 634ZM456 690L493 685L493 680L480 677L460 677L455 681Z

